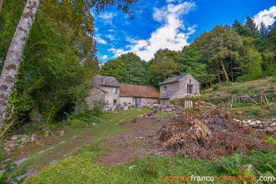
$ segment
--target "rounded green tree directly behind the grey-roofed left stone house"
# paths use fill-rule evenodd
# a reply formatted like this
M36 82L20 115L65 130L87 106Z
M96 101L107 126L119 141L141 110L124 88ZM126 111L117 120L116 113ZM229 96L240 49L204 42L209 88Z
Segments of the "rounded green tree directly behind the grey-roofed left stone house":
M108 60L101 69L103 70L103 75L114 76L119 83L128 83L128 71L121 59Z

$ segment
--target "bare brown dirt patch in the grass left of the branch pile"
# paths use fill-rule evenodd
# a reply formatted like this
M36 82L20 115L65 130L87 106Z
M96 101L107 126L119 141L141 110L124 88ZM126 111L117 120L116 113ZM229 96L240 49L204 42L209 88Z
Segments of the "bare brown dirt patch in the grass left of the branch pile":
M99 148L105 155L99 157L99 165L111 167L148 156L152 153L149 140L155 137L156 132L168 122L169 118L170 116L141 117L120 123L119 126L127 125L130 131L110 136L101 143Z

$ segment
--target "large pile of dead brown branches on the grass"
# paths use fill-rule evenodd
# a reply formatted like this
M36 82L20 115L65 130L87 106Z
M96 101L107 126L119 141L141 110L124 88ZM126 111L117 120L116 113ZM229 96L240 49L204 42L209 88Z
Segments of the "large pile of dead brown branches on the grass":
M235 121L217 105L204 115L181 114L159 130L162 150L188 154L195 159L215 159L221 155L242 154L256 147L270 147L266 135Z

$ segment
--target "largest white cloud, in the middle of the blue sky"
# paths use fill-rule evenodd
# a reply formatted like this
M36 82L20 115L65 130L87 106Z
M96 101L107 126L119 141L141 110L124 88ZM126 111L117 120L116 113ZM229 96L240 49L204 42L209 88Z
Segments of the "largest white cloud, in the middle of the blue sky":
M132 39L126 37L128 50L122 48L111 48L108 51L113 52L114 57L119 57L127 52L134 52L141 59L149 61L154 57L157 50L168 48L169 50L181 50L184 45L188 45L187 40L190 34L195 32L195 26L185 27L184 15L195 9L194 2L184 2L174 5L169 3L162 8L154 8L153 18L162 25L150 34L149 39ZM184 32L186 30L186 32Z

